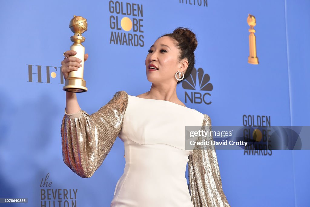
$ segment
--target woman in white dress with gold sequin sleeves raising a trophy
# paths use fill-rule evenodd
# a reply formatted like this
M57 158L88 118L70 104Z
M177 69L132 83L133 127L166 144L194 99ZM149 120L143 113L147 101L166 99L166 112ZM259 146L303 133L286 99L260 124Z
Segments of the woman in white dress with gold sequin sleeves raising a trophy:
M74 173L91 177L116 137L124 142L126 164L112 207L229 206L214 147L185 149L185 126L211 126L208 115L187 108L176 94L177 84L193 70L196 47L196 36L187 28L161 36L145 59L151 89L138 96L119 91L91 115L79 107L75 93L66 92L62 149L64 163ZM72 57L75 54L64 54L65 79L81 66ZM184 176L187 162L189 189Z

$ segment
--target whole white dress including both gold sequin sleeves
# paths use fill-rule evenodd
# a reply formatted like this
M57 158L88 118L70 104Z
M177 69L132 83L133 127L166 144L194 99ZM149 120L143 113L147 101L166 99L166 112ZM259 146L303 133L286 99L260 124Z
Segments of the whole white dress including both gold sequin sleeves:
M60 131L63 160L74 173L89 178L118 136L124 142L126 164L110 207L230 206L215 150L185 149L185 126L211 126L211 121L170 101L119 91L91 115L65 110Z

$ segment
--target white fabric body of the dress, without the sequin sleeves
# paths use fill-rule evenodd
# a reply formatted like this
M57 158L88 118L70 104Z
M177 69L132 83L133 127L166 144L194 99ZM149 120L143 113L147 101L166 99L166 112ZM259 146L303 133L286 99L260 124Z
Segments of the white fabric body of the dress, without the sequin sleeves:
M203 114L170 101L128 96L119 138L124 174L111 207L193 207L185 178L190 150L185 126L201 126Z

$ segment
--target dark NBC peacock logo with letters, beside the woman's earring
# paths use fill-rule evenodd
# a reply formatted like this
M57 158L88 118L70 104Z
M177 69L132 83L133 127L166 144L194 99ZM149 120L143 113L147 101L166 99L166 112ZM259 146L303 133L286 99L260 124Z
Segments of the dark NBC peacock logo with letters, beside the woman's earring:
M183 82L182 87L186 90L195 90L191 92L185 91L185 103L188 101L191 103L201 104L202 102L209 105L211 101L211 94L206 91L212 91L213 85L209 83L210 75L205 74L202 68L193 68L192 73ZM199 92L198 92L199 91Z

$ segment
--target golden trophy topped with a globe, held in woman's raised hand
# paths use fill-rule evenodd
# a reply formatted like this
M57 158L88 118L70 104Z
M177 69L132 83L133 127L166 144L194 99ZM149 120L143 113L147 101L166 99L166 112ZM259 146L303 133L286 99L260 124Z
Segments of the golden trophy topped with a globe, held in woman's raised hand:
M70 47L70 50L74 50L77 54L73 57L77 57L82 60L82 66L77 71L69 72L68 78L64 81L64 91L81 93L86 92L86 81L83 79L84 72L84 55L85 47L82 43L85 41L85 37L82 36L82 33L87 30L87 21L82 16L73 16L70 21L69 28L74 33L70 40L73 44Z

